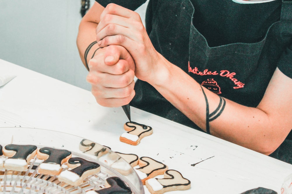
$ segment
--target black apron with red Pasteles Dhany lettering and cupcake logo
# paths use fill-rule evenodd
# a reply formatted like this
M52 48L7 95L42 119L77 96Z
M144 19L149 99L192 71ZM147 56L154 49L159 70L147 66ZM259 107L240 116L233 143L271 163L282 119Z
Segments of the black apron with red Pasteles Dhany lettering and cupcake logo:
M196 9L190 0L152 1L147 8L146 28L157 51L202 86L239 104L256 107L277 67L277 60L291 44L291 7L288 6L291 3L283 3L281 20L272 24L265 37L255 43L209 47L193 25ZM174 22L173 18L183 22ZM150 84L138 80L135 91L132 106L199 129Z

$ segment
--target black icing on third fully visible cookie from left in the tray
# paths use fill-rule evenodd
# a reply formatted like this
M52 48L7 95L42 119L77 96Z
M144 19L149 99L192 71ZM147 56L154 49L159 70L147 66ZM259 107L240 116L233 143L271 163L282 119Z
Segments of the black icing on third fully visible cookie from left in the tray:
M98 163L87 161L83 158L78 158L78 157L70 158L68 160L68 163L69 164L80 164L80 166L70 170L71 172L74 172L75 174L77 174L79 177L81 177L83 175L83 173L86 172L87 170L96 169L96 168L100 167L100 165Z

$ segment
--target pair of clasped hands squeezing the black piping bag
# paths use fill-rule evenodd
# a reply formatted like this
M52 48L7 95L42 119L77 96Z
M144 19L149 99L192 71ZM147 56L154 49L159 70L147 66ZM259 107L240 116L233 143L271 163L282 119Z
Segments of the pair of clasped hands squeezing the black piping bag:
M134 76L143 81L154 79L161 55L154 49L140 15L112 3L100 16L96 40L102 49L88 65L92 93L102 106L128 104L135 95Z

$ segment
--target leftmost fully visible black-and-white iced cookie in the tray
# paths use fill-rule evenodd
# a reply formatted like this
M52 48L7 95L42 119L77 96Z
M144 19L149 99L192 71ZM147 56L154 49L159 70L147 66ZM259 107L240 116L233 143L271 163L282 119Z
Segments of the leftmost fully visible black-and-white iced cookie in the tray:
M4 162L4 168L15 171L27 170L27 164L36 155L36 150L35 145L6 145L3 153L8 159Z

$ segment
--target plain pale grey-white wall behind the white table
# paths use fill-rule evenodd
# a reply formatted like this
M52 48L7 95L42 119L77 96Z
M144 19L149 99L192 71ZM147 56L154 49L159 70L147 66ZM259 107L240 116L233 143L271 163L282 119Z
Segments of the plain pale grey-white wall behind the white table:
M146 6L137 10L143 21ZM0 0L0 58L91 90L76 47L80 7L80 0Z

